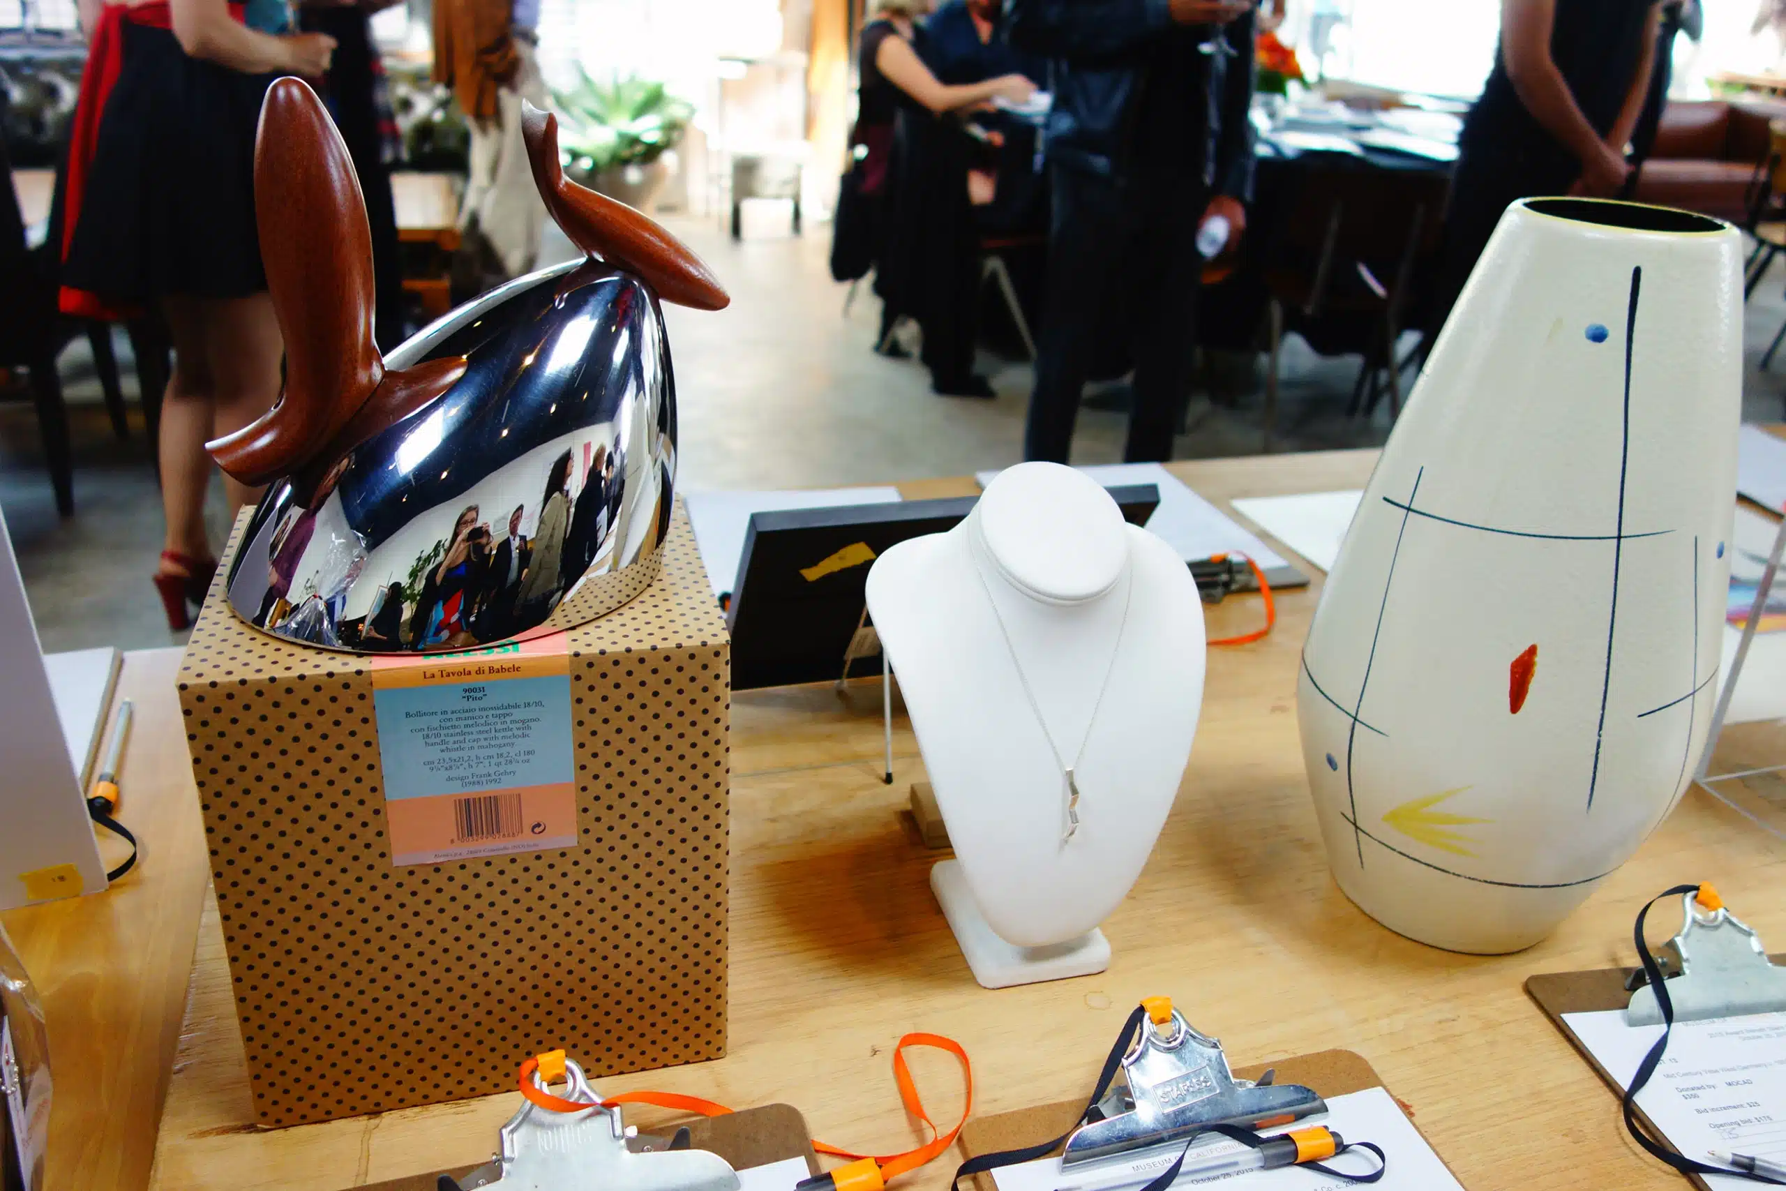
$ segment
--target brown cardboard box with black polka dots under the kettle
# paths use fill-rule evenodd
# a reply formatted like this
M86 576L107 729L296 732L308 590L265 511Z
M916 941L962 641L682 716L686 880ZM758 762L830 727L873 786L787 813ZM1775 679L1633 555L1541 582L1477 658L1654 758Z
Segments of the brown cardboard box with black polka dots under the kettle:
M254 630L234 548L180 705L259 1121L722 1057L730 643L682 509L641 596L452 664Z

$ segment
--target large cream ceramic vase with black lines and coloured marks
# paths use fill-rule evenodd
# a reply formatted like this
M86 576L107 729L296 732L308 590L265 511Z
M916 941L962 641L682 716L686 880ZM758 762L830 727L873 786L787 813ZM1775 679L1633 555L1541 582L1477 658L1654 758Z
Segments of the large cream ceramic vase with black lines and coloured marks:
M1297 707L1340 887L1422 943L1531 946L1704 748L1741 407L1741 241L1532 198L1370 477Z

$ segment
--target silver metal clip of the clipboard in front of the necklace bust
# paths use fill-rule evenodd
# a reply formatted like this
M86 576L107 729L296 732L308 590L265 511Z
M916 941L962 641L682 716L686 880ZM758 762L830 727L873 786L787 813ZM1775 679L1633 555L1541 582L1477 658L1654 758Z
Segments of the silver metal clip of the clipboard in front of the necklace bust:
M1222 1043L1193 1030L1168 998L1150 996L1141 1004L1148 1021L1123 1055L1127 1086L1113 1087L1091 1111L1097 1120L1066 1139L1063 1170L1136 1150L1184 1145L1211 1125L1256 1129L1327 1109L1309 1087L1272 1084L1270 1071L1256 1084L1234 1079Z

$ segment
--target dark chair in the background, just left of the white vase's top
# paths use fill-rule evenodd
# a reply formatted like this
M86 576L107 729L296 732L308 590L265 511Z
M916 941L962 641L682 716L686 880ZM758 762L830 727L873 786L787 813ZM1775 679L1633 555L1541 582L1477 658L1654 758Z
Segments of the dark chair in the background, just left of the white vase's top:
M1322 355L1363 355L1347 412L1375 409L1382 384L1390 412L1400 414L1395 341L1423 266L1438 254L1448 186L1427 171L1309 162L1286 218L1275 221L1273 243L1264 246L1264 450L1272 450L1277 429L1288 330Z

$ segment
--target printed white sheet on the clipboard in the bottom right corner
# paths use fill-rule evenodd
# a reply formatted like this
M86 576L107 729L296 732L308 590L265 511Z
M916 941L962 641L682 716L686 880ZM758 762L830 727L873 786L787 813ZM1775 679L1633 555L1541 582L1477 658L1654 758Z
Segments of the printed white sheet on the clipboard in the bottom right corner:
M1566 1012L1563 1021L1620 1089L1663 1036L1659 1025L1625 1025L1623 1009ZM1675 1150L1700 1162L1711 1161L1711 1150L1786 1162L1786 1012L1677 1021L1638 1107ZM1756 1186L1718 1175L1706 1184L1713 1191Z

